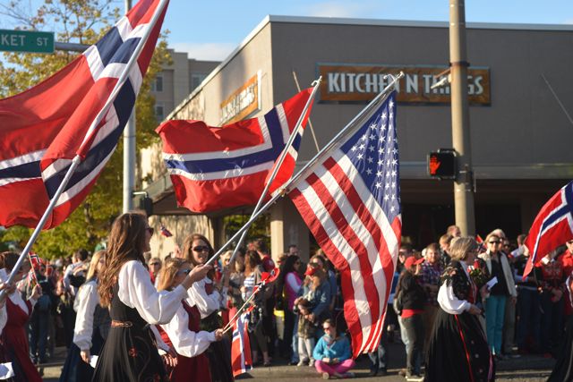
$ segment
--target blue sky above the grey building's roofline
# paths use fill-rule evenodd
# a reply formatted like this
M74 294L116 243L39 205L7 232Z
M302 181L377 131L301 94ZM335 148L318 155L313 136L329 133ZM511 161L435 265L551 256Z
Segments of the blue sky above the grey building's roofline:
M267 14L448 21L448 0L171 0L169 45L202 60L222 60ZM466 0L468 22L573 24L573 1Z

